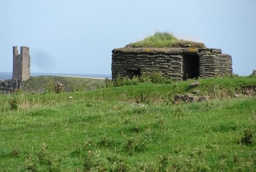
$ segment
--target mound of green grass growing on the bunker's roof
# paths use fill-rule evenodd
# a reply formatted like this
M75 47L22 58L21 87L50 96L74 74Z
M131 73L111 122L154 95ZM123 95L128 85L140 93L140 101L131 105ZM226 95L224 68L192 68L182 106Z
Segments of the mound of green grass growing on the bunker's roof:
M169 32L156 32L155 34L150 35L143 40L134 42L130 45L139 47L180 48L180 44L189 44L191 48L205 48L205 45L201 42L178 39Z

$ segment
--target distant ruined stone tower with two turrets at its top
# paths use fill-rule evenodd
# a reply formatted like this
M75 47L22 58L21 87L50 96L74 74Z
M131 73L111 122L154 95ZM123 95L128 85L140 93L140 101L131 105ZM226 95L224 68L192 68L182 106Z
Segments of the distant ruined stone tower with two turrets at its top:
M20 54L18 54L17 46L13 46L13 68L12 79L17 79L19 82L23 82L30 77L30 55L29 47L20 47Z

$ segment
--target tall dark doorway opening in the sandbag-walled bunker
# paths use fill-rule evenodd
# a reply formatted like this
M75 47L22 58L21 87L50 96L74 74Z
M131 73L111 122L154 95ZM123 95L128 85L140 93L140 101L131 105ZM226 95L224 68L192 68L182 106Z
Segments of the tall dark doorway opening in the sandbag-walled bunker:
M199 56L184 55L183 56L183 80L199 77Z

